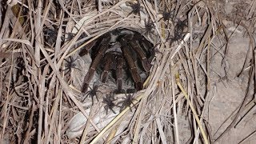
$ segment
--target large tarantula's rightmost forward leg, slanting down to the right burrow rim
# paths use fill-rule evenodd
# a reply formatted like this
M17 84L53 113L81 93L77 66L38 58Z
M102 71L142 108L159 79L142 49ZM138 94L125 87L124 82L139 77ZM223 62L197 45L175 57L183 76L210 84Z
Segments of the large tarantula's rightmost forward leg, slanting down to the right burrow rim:
M139 46L137 41L130 41L128 43L130 44L130 47L138 54L138 58L140 58L140 60L142 61L142 66L144 70L146 70L146 73L149 73L151 65L148 59L146 58L146 55L142 51L142 47Z

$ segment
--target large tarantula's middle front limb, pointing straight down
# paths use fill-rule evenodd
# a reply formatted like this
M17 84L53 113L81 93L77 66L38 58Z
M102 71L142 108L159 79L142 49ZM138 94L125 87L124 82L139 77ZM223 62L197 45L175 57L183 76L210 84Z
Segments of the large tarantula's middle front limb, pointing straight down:
M117 54L116 59L117 59L117 86L118 86L118 91L121 91L122 78L123 78L122 67L124 65L124 59L121 54Z

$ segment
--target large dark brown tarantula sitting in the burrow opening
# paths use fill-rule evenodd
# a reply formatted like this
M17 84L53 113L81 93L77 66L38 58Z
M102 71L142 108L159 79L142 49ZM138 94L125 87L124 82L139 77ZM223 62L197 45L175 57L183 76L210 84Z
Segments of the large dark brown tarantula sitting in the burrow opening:
M141 34L133 30L116 29L102 35L86 47L92 58L82 93L86 93L94 72L101 73L101 82L109 76L115 80L117 91L122 91L123 78L132 82L136 90L142 90L143 82L150 72L154 47ZM82 53L82 52L81 52Z

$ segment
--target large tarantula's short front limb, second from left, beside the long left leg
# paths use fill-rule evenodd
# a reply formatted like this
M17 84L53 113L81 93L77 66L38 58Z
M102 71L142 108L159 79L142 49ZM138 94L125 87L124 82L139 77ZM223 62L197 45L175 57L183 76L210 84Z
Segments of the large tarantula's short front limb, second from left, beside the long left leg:
M105 66L104 71L101 75L101 80L103 83L106 83L107 79L109 78L109 72L110 72L110 66L112 65L114 61L114 55L111 52L106 53L105 59Z

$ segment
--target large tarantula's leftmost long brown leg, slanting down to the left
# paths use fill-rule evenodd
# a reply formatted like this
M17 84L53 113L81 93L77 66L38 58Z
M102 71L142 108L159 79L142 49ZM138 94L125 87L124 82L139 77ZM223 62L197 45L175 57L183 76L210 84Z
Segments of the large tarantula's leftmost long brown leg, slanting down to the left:
M96 58L94 58L94 61L92 62L90 69L88 70L86 77L84 78L84 84L82 86L82 93L86 93L90 80L94 77L94 72L99 64L101 62L106 50L108 49L108 43L110 42L110 35L108 35L107 38L103 38L102 42L100 44L100 48L98 50L98 54Z

